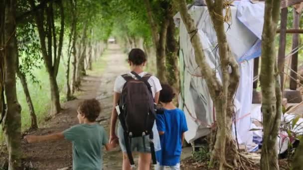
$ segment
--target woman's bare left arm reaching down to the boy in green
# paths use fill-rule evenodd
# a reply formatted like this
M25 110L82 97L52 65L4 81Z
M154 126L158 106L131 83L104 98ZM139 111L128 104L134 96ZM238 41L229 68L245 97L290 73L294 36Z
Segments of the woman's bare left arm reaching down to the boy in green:
M109 141L109 143L112 143L112 141L114 141L115 139L118 139L115 130L116 130L116 122L117 122L117 119L118 119L116 106L118 104L119 98L120 98L120 93L114 92L114 101L113 101L113 110L112 110L112 116L111 116L110 141Z

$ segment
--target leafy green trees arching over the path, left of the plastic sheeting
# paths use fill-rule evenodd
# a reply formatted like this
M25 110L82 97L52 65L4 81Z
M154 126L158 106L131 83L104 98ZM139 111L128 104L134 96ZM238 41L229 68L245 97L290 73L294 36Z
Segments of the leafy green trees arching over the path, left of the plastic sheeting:
M34 69L45 67L51 111L61 111L57 75L66 68L66 99L73 99L86 69L114 35L126 48L144 48L157 76L178 89L177 50L171 0L1 0L1 117L9 152L9 169L21 166L21 106L16 95L20 80L30 110L31 129L38 128L27 82L37 83ZM41 64L43 63L43 65ZM167 70L167 71L166 71ZM4 74L5 73L5 74ZM5 76L4 76L5 75ZM9 88L8 88L9 87Z

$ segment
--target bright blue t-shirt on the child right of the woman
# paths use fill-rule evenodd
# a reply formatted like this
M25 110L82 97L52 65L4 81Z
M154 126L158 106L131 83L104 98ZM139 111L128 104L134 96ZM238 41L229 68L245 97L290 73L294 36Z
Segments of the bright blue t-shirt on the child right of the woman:
M184 112L165 109L164 114L156 116L157 129L164 132L160 135L161 150L156 152L157 162L160 166L175 166L180 163L182 133L188 130Z

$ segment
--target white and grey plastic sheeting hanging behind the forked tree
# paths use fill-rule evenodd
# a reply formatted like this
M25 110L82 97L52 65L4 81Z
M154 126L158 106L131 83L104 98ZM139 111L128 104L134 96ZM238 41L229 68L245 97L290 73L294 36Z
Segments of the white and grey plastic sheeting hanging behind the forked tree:
M207 63L213 70L214 76L221 80L219 70L219 54L216 50L217 37L211 24L208 9L205 6L193 6L190 8L194 21L197 24L198 34L203 45ZM226 24L227 41L237 60L244 56L255 44L258 38L237 19L237 7L231 7L232 24ZM179 14L175 16L180 20ZM180 20L180 79L181 94L179 105L185 112L188 132L185 133L187 142L210 133L210 126L214 120L213 103L208 88L195 62L193 48L187 30ZM253 134L251 128L251 103L253 88L253 61L243 62L240 65L240 84L236 93L236 128L240 144L252 146ZM184 101L183 101L184 100Z

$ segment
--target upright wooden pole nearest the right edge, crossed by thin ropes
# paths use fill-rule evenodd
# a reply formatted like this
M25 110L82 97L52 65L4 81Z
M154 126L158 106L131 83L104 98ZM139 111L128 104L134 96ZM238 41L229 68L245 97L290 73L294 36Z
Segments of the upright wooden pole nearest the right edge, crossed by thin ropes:
M296 9L294 9L294 22L293 22L294 29L300 28L300 13L296 12ZM293 49L298 47L299 45L299 34L293 34ZM293 54L292 56L292 69L295 72L298 72L298 52ZM297 74L294 72L291 72L291 77L297 80ZM290 89L296 90L297 89L297 81L290 80Z

